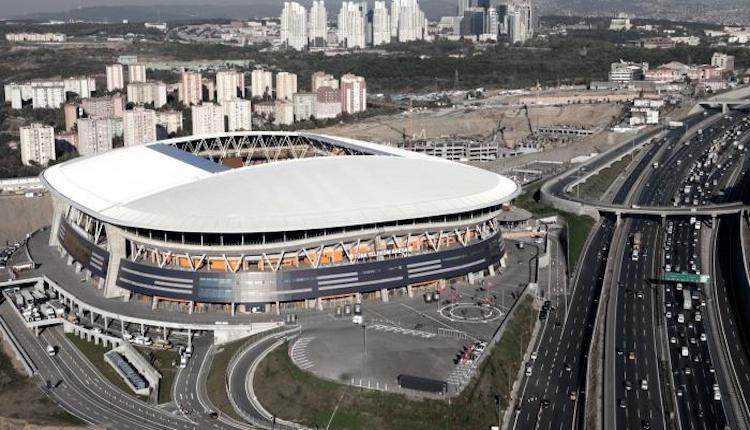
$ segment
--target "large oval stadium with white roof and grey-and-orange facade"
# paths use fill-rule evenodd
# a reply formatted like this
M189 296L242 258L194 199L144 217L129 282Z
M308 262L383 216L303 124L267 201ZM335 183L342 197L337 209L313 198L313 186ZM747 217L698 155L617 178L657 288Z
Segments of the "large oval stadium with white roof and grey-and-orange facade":
M106 297L323 307L494 274L520 192L471 166L304 133L191 136L50 167L50 246Z

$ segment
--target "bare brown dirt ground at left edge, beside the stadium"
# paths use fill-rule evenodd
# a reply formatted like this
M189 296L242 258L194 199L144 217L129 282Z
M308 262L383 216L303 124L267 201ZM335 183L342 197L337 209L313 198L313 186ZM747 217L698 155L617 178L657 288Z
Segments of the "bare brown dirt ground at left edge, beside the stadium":
M52 199L49 195L26 198L0 196L0 246L26 237L26 233L49 225Z

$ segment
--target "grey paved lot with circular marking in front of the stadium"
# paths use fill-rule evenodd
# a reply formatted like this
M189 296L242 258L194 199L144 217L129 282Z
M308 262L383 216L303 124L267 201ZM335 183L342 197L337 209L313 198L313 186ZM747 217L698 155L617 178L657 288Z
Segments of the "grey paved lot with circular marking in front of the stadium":
M352 316L302 321L292 345L300 368L326 379L372 389L397 391L399 375L445 381L456 394L473 373L507 311L530 281L536 247L508 243L504 273L447 286L437 296L395 296L361 305L362 324ZM352 307L352 314L356 311Z

